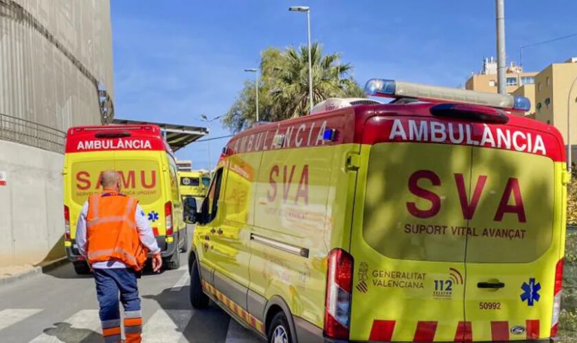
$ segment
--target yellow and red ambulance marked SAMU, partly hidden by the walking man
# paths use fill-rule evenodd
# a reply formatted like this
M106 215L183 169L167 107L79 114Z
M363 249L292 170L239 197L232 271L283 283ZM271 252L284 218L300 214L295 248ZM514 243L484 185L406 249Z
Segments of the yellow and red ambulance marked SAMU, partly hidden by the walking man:
M122 193L137 198L156 236L166 268L180 267L187 233L179 193L177 165L159 126L80 126L67 132L65 147L65 250L78 274L89 272L76 246L76 221L82 205L102 191L100 173L117 170Z

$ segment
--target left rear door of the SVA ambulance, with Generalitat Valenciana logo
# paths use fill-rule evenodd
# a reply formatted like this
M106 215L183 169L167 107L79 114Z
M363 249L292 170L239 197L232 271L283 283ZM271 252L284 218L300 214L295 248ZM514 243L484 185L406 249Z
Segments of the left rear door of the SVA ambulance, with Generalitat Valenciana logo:
M471 186L472 147L420 141L431 138L427 117L373 117L364 130L383 138L361 146L350 339L463 340L467 220L459 193Z

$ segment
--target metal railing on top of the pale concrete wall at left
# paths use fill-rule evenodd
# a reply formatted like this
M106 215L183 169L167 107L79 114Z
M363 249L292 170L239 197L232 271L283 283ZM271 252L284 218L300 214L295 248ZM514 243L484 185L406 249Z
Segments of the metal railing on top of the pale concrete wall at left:
M0 139L62 154L66 132L0 113Z

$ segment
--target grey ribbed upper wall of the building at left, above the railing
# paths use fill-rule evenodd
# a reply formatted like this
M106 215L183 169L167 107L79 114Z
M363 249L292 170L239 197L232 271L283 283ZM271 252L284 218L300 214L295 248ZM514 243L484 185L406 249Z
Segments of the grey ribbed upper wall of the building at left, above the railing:
M61 131L114 97L109 0L0 1L0 113Z

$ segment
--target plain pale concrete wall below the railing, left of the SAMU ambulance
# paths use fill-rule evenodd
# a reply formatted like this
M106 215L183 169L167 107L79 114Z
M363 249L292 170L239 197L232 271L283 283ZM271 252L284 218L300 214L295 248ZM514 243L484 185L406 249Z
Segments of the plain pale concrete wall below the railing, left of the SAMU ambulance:
M0 140L0 267L63 257L64 155Z

